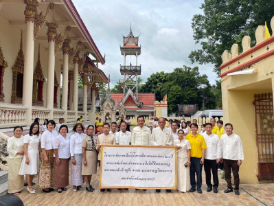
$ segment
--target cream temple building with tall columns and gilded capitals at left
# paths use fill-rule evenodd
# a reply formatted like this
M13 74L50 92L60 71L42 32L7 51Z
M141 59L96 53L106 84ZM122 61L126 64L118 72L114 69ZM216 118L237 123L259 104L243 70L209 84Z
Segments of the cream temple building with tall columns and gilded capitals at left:
M0 128L30 126L36 117L92 120L108 82L98 68L105 57L72 1L0 1L0 25Z

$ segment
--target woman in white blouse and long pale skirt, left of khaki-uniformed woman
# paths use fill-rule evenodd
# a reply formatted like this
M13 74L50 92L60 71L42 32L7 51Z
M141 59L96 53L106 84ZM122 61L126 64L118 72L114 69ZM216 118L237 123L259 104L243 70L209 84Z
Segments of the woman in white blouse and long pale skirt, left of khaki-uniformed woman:
M81 123L77 123L73 129L75 133L71 135L70 152L71 152L71 185L72 191L76 192L77 189L83 190L82 184L82 140L86 137L86 134L82 133L84 127Z

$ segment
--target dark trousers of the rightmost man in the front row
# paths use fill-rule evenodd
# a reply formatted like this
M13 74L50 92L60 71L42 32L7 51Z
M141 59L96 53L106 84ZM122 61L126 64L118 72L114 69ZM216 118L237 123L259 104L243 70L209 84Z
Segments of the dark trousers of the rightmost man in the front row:
M227 181L227 188L232 190L231 184L231 169L234 177L234 190L239 190L240 177L239 177L239 165L237 165L238 160L223 159L224 170L225 170L225 180Z

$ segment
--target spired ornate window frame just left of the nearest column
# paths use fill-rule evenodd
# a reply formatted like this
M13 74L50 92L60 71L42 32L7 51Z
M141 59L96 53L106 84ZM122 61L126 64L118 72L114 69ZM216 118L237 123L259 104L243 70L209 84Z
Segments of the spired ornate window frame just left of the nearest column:
M23 98L23 73L24 54L22 49L22 32L20 49L17 54L14 66L12 67L12 104L22 104Z

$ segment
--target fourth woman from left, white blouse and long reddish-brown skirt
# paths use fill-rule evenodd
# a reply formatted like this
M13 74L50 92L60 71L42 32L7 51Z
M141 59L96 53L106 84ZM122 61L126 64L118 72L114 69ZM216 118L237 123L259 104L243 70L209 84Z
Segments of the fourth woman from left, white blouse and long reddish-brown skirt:
M71 154L68 132L67 125L62 124L59 128L60 135L54 141L54 187L57 187L58 193L62 193L62 190L66 191L65 187L69 185L69 160Z

